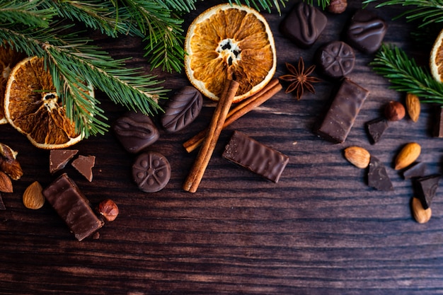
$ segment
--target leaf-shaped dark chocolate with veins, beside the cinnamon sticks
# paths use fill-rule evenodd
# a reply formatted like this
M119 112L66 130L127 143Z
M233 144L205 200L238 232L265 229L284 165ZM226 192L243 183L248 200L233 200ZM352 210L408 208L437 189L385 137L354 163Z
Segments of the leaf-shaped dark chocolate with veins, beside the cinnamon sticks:
M168 100L161 125L168 132L178 132L197 118L202 106L202 93L192 86L185 86Z

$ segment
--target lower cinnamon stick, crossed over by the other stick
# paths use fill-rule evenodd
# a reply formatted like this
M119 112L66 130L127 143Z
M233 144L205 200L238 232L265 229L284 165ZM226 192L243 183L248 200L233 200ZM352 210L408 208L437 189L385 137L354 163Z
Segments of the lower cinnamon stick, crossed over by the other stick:
M226 128L239 117L242 117L249 111L257 108L262 103L265 103L266 100L272 98L272 96L274 96L275 93L279 92L281 89L282 85L280 84L278 79L273 79L272 81L270 81L270 83L268 83L267 86L265 86L261 91L255 93L250 98L243 100L243 102L239 103L238 105L236 105L235 108L230 110L226 117L226 121L224 122L223 128ZM206 132L207 129L204 129L201 132L197 133L191 139L188 139L188 141L185 141L183 146L185 147L186 151L188 151L188 153L194 151L195 149L197 149L198 146L200 146L200 144L202 144Z

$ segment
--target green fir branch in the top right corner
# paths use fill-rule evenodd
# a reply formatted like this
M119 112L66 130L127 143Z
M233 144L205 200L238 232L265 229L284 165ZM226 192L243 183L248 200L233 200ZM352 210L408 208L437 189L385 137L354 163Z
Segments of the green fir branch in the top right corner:
M377 1L378 0L366 0L363 4ZM413 7L396 16L394 19L405 17L407 21L422 21L419 27L443 22L443 0L388 0L376 5L376 8L391 5Z

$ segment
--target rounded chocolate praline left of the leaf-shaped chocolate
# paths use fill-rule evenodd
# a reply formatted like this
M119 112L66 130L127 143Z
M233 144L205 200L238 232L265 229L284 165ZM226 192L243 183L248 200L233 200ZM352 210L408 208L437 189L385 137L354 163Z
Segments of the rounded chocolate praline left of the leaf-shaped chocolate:
M115 121L113 130L126 151L137 154L159 139L159 130L148 115L127 112Z

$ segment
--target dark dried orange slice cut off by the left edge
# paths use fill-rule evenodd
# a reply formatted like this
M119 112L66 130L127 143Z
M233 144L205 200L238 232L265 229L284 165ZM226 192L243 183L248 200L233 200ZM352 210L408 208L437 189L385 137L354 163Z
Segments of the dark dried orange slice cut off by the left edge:
M8 83L9 74L13 67L24 59L24 53L16 52L8 46L0 46L0 105L4 103L6 83ZM0 108L0 124L6 124L4 109Z

